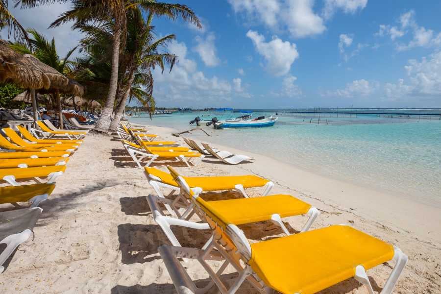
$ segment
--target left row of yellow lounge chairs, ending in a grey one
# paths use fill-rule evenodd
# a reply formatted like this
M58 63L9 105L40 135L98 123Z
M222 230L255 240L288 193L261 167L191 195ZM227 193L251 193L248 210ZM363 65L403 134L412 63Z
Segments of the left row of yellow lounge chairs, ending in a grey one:
M43 211L39 204L52 193L55 180L88 132L60 130L50 122L37 125L0 131L0 204L15 208L0 212L0 273L16 248L32 235Z

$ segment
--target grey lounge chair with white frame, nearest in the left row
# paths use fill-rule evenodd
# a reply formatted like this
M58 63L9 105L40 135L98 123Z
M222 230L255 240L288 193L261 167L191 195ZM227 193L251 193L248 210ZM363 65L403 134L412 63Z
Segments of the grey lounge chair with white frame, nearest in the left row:
M0 248L1 244L6 245L0 252L0 273L14 250L32 235L42 211L40 207L33 207L0 212Z

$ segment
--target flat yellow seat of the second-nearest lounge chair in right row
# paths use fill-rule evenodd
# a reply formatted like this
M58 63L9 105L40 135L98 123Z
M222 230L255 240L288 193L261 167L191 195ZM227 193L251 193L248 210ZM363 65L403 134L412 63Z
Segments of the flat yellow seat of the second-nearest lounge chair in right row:
M269 195L252 198L204 201L197 197L197 202L216 216L222 216L226 224L245 224L268 221L273 214L282 218L306 214L311 205L291 195Z

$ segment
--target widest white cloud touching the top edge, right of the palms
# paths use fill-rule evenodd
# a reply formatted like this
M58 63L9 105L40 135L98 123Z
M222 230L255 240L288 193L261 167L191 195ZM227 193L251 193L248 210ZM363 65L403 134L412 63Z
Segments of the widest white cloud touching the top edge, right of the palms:
M326 27L313 11L314 0L228 0L234 12L249 23L263 23L273 31L286 30L303 38L322 33Z

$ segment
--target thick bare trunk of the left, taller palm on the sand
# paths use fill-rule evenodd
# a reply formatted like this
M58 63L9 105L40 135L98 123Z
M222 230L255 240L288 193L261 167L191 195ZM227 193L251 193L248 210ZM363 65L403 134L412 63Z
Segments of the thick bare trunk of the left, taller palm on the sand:
M121 30L117 29L113 35L112 73L110 75L109 93L101 116L95 126L95 130L107 133L112 121L113 106L115 104L116 90L118 87L118 63L120 54Z

